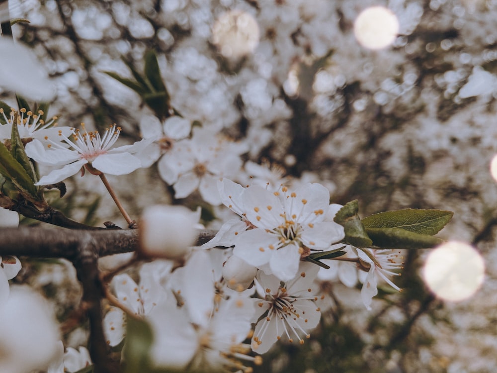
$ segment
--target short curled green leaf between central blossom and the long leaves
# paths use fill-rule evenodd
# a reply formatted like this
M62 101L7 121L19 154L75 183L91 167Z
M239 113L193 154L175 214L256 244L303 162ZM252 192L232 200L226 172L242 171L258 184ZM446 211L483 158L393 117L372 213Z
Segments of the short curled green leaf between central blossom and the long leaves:
M356 200L347 202L334 217L334 222L343 226L345 229L345 238L343 243L355 247L370 247L373 242L368 237L361 223L361 218L357 215L359 203Z

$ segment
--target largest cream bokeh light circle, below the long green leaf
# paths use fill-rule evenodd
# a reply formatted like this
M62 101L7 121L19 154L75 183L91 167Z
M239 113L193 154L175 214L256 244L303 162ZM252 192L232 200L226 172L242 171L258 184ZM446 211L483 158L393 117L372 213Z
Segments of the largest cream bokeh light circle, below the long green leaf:
M428 255L422 276L437 297L460 301L471 297L482 285L485 262L472 246L447 242Z

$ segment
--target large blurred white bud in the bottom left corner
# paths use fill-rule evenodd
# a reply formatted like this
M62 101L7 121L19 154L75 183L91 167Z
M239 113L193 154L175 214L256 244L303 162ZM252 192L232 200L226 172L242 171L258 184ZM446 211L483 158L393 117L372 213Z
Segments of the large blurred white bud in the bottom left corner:
M0 305L0 372L45 370L57 355L58 326L45 300L26 288L14 287Z

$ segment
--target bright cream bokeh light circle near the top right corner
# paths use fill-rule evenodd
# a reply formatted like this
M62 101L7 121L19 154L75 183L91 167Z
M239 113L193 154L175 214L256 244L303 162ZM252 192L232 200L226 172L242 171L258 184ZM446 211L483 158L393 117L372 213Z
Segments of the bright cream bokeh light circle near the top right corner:
M369 49L391 45L399 33L399 19L384 6L371 6L359 13L354 22L357 41Z

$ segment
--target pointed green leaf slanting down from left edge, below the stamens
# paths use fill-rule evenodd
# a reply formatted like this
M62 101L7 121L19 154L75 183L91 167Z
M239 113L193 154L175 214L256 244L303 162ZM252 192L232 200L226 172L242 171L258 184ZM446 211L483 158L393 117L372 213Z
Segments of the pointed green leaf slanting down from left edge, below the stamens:
M0 142L0 174L9 179L26 196L38 200L38 188L22 165L15 160L7 147Z

